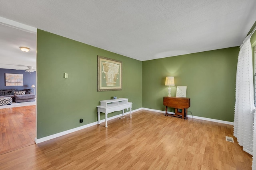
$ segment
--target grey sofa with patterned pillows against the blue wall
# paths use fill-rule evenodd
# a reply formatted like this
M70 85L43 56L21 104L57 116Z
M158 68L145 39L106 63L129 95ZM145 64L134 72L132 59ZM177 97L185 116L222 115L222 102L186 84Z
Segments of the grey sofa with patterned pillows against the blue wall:
M16 91L15 89L0 90L0 98L11 97L13 102L33 102L36 100L36 95L31 93L31 89Z

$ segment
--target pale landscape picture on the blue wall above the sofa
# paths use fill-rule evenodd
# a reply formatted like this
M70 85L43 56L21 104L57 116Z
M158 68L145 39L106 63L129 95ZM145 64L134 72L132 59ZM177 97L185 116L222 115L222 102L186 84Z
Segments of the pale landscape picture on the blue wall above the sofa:
M23 86L23 74L5 73L5 86Z

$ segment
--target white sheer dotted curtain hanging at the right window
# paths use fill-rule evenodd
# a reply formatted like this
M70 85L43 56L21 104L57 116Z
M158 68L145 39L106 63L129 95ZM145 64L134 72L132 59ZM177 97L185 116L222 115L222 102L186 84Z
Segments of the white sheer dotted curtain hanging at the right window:
M234 115L234 136L239 145L253 154L254 88L252 72L251 34L240 46L236 71L236 102Z

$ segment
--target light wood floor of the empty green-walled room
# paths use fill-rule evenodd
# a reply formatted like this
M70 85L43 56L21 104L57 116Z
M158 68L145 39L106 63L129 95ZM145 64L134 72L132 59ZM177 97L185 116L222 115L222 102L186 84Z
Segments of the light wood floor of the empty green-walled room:
M96 114L96 113L95 113ZM108 121L0 155L12 169L249 170L252 156L235 143L233 126L137 111L132 119Z

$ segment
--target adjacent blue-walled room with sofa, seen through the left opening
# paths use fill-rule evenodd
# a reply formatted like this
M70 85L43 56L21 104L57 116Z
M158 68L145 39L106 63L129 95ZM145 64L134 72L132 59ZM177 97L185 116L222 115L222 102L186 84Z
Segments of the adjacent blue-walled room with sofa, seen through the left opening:
M0 24L0 30L0 154L3 154L35 143L36 32L8 24Z

